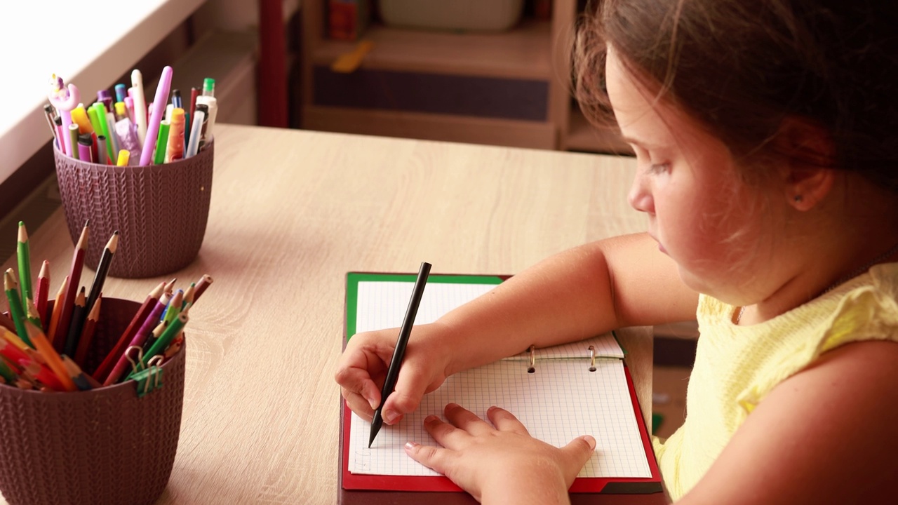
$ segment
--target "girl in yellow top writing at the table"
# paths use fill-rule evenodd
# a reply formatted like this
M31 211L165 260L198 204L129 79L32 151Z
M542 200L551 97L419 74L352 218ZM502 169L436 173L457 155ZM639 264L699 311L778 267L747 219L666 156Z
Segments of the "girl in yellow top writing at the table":
M416 327L388 424L464 368L529 345L697 318L674 501L894 501L898 37L867 0L609 0L580 27L577 93L637 155L648 233L560 253ZM369 418L396 331L358 334L337 381ZM564 503L595 447L514 412L430 416L410 457L486 502ZM601 447L599 447L601 450Z

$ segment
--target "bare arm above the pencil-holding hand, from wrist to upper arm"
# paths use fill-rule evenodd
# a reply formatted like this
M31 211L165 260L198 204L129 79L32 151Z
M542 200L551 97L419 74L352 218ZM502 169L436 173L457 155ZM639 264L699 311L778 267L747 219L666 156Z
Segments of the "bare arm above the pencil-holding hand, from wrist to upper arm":
M624 326L695 318L698 294L646 234L556 254L437 323L453 334L454 373L521 352Z

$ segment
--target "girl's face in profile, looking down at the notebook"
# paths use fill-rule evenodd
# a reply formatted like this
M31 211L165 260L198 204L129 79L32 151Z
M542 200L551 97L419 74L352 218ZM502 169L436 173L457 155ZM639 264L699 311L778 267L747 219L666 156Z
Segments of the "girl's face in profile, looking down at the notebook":
M606 85L621 133L637 155L629 203L648 215L648 233L692 289L739 304L757 270L745 261L762 246L758 193L741 182L732 155L683 111L654 97L612 49ZM755 254L745 254L748 248ZM738 259L738 261L735 261Z

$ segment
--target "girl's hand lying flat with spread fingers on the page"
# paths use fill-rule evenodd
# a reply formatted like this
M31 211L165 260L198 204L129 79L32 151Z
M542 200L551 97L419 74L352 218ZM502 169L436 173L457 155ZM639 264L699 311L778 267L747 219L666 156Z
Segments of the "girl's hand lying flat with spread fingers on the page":
M487 411L493 426L455 403L445 406L445 416L452 424L436 416L424 420L443 447L409 442L405 451L481 503L568 503L568 487L595 449L588 435L560 448L533 439L521 421L498 407Z

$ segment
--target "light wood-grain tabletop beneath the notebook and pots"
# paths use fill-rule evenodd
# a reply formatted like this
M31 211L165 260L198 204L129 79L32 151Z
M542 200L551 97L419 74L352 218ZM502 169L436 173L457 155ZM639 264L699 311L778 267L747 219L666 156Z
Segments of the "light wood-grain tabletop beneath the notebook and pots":
M514 274L645 227L626 202L626 158L230 125L216 137L206 239L172 274L216 280L191 310L180 445L159 503L336 501L347 271L429 261ZM51 292L72 248L62 209L31 230ZM103 295L143 300L160 280L110 278ZM623 334L648 423L650 330Z

